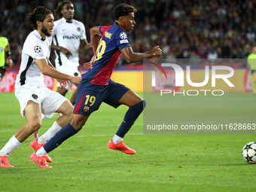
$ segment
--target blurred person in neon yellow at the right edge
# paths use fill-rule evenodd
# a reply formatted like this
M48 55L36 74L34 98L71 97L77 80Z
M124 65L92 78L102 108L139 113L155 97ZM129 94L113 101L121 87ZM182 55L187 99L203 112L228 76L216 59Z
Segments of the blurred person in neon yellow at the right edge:
M247 58L247 69L251 69L250 83L252 92L256 94L256 47L252 48L252 53Z

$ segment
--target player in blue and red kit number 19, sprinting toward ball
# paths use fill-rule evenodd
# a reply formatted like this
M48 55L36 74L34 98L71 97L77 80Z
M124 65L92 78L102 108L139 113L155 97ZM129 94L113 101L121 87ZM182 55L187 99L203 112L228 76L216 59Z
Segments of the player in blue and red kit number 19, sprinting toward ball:
M136 154L136 151L123 144L123 137L142 113L145 100L133 90L111 81L110 77L121 54L127 62L138 62L151 56L160 56L162 50L156 46L145 53L133 53L126 32L130 32L136 24L135 12L136 9L131 5L117 5L114 8L115 22L112 26L96 26L90 29L90 39L95 55L90 62L84 64L84 67L90 70L82 75L75 101L74 117L71 123L59 130L44 147L31 155L31 159L39 167L51 168L45 160L47 153L78 133L90 114L98 110L102 102L114 108L122 104L129 107L117 133L108 142L108 148L126 154Z

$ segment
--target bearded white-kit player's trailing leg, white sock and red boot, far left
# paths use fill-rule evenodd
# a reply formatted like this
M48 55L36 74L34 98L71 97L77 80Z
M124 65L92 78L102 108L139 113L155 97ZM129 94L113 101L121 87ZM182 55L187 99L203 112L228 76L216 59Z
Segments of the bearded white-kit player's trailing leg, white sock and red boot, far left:
M21 126L0 151L0 166L2 167L11 166L8 162L9 154L41 127L41 105L30 100L24 109L24 115L27 120L26 125Z

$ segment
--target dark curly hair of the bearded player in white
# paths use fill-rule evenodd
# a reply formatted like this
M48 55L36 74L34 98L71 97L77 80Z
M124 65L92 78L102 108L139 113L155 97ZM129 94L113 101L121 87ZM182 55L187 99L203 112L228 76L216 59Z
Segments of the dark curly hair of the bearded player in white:
M41 22L44 22L44 19L47 17L48 14L53 14L53 12L47 8L44 8L43 6L40 6L38 8L35 8L34 11L28 14L26 20L31 24L31 26L37 29L38 25L36 24L36 21L39 20Z

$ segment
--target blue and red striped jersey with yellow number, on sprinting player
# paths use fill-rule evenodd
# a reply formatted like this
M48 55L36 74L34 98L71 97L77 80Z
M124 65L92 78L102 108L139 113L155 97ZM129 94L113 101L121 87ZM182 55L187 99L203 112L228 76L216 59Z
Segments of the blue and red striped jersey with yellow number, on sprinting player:
M111 26L101 26L102 37L96 50L93 68L82 75L82 78L92 84L108 85L108 81L117 65L123 47L130 47L126 31L114 23Z

